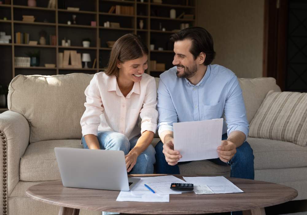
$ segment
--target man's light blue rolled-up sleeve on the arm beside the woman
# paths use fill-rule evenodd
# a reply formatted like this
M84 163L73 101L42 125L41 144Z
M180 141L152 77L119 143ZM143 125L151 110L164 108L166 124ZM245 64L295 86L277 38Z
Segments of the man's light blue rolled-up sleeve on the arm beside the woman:
M161 78L159 80L157 100L157 110L159 113L158 134L160 136L163 131L173 131L173 123L178 122L178 116L172 98Z

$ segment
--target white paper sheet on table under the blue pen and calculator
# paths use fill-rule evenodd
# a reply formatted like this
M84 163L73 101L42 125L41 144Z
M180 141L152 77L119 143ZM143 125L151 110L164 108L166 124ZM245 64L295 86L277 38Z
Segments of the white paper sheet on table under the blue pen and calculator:
M180 194L184 192L191 192L189 190L171 190L171 183L186 183L185 181L173 176L156 176L156 177L143 177L141 180L131 188L130 192L133 195L143 195L146 193L152 193L148 190L144 184L148 185L151 189L155 191L153 194L166 195L166 194Z

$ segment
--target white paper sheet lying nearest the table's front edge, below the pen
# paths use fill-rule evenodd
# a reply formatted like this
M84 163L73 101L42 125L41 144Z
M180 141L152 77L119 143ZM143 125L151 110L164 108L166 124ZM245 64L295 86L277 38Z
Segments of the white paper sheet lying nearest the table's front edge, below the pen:
M144 195L133 195L130 191L120 191L116 201L169 202L169 195L157 195L151 192Z

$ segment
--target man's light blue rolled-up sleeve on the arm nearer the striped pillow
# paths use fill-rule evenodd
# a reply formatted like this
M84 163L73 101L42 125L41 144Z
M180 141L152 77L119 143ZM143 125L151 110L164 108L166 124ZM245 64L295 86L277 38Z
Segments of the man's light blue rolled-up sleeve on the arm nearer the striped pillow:
M232 131L242 131L247 139L249 124L246 117L242 90L236 76L232 76L228 83L228 95L224 113L227 123L227 135L229 136Z

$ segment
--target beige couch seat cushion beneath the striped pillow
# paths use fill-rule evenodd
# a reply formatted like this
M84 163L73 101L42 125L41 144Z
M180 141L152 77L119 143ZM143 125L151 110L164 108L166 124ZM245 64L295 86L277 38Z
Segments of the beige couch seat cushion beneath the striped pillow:
M255 170L307 167L307 147L252 137L248 137L247 142L254 151Z

